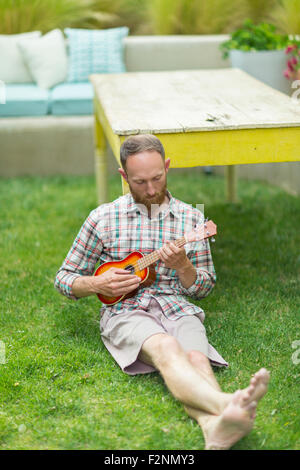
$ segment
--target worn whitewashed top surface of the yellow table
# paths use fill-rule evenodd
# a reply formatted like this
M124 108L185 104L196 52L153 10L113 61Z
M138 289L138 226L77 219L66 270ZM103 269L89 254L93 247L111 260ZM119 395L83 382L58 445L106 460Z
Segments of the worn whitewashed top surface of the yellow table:
M239 69L90 76L117 135L300 127L300 100Z

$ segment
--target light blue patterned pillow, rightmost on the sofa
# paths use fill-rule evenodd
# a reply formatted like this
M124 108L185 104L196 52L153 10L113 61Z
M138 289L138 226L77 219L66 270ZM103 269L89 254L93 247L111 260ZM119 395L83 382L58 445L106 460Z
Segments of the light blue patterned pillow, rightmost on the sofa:
M123 38L127 27L103 30L66 28L69 42L68 82L88 81L92 73L125 72Z

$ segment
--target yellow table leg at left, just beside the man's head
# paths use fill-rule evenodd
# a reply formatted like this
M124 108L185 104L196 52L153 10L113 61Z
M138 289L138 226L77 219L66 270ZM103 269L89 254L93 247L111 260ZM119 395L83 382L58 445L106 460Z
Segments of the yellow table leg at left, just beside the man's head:
M94 119L94 135L97 200L98 204L104 204L108 202L106 138L97 116Z

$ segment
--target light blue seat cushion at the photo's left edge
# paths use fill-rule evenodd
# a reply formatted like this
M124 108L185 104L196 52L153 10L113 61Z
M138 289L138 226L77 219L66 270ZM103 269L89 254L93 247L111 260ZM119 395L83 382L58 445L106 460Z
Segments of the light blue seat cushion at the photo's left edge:
M0 116L44 116L49 112L49 91L33 83L5 85L5 104Z

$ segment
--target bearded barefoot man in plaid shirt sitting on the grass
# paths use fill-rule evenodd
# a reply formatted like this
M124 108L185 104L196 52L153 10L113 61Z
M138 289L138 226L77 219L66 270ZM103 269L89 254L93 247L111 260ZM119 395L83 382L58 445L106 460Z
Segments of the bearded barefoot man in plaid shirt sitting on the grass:
M129 137L121 147L120 174L130 194L103 204L84 222L55 286L78 299L97 293L116 297L137 293L101 311L102 340L125 373L159 371L174 397L201 426L206 449L228 449L252 429L257 402L269 373L257 372L244 390L220 389L211 365L227 366L208 343L200 299L216 280L208 241L178 248L172 241L203 221L197 209L167 191L170 159L153 135ZM154 284L111 268L93 276L97 262L118 261L133 251L159 250Z

